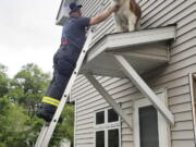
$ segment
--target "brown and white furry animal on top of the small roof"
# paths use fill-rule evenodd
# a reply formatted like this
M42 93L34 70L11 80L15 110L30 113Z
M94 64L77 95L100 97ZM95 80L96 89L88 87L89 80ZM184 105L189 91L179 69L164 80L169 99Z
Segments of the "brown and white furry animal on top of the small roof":
M113 0L120 5L115 13L117 32L133 32L139 27L142 10L135 0Z

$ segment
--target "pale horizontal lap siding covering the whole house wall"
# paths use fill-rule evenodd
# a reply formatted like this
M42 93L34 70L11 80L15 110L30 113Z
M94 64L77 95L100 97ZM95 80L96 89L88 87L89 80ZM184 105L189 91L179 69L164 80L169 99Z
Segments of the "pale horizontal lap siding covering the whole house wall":
M87 16L95 15L102 1L106 8L110 5L110 0L78 0ZM145 74L144 78L150 87L168 89L169 109L175 118L175 125L171 126L172 147L195 147L188 73L196 72L196 1L137 1L143 10L143 29L176 24L176 40L170 46L169 64ZM98 25L94 42L111 32L114 32L112 17ZM133 102L140 97L134 85L126 78L97 78L132 118ZM75 147L94 147L94 112L109 106L82 75L73 87L72 98L76 103ZM122 147L134 147L133 138L133 132L122 122Z

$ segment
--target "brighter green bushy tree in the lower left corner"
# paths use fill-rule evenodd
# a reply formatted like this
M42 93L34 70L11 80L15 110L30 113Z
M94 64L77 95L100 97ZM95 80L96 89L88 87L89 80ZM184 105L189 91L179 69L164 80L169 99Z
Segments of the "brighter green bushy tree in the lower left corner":
M0 99L0 147L32 147L41 121L29 119L23 107L5 97Z

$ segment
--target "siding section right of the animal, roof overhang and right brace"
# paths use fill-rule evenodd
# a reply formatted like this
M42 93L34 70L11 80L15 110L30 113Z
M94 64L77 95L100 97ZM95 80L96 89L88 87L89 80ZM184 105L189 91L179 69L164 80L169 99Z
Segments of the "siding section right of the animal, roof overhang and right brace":
M176 40L170 47L169 65L148 73L146 78L156 75L157 78L148 81L148 84L168 88L170 110L175 117L175 126L171 127L172 147L194 147L188 73L196 71L196 1L162 0L151 12L146 11L142 19L143 28L172 23L177 26Z

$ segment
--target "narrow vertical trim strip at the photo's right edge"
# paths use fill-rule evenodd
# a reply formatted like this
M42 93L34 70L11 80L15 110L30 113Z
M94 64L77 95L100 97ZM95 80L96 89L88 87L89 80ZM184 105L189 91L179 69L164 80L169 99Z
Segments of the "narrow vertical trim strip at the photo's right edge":
M194 79L195 78L195 79ZM189 90L191 90L191 98L192 98L192 110L193 110L193 125L194 125L194 133L195 133L195 144L196 144L196 108L195 108L195 93L194 87L196 86L196 75L189 73Z

